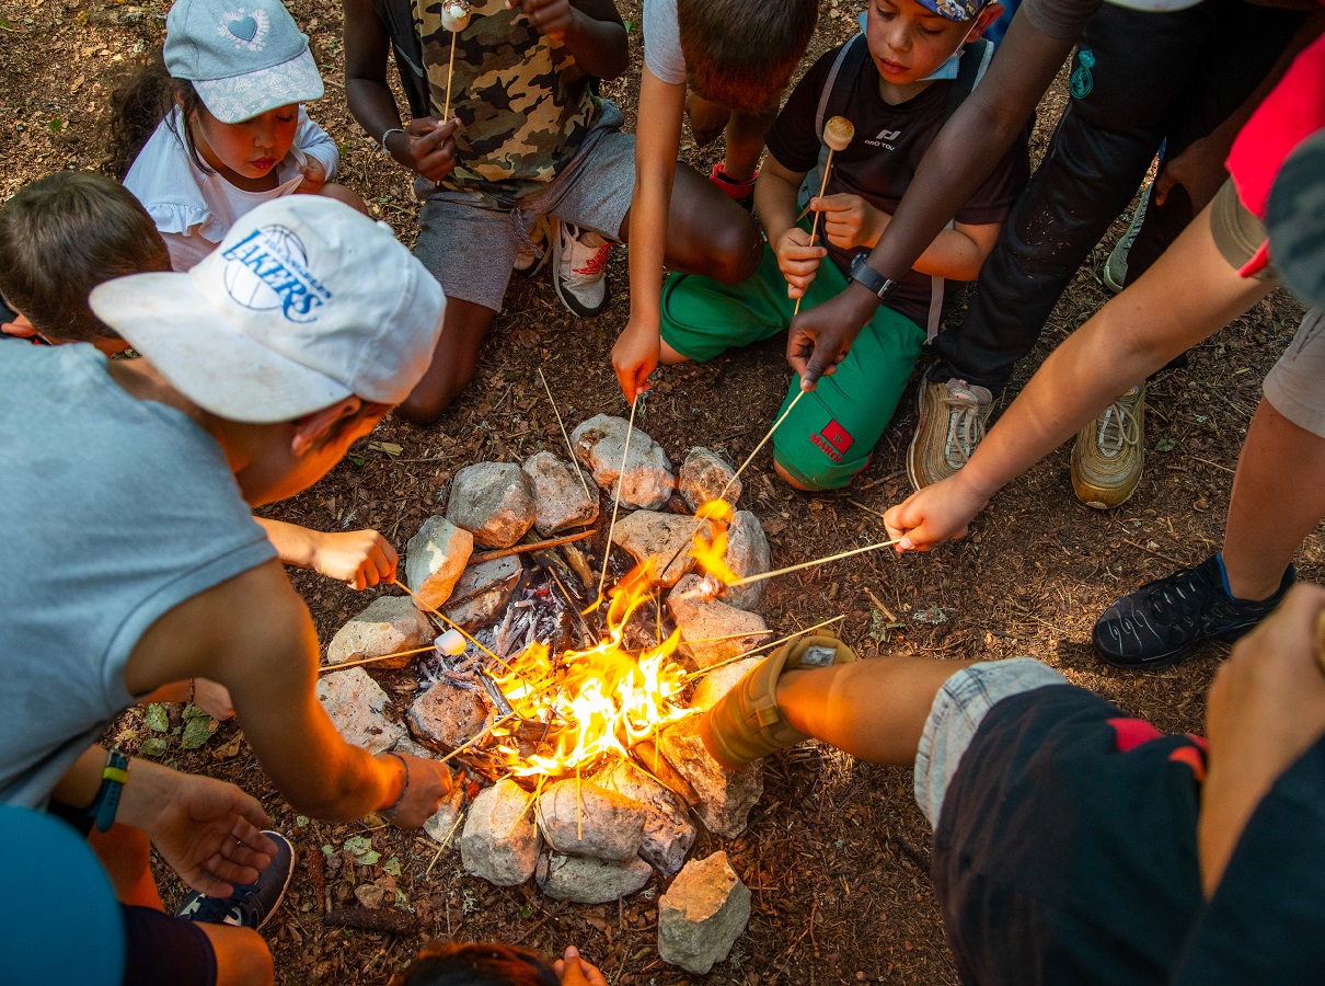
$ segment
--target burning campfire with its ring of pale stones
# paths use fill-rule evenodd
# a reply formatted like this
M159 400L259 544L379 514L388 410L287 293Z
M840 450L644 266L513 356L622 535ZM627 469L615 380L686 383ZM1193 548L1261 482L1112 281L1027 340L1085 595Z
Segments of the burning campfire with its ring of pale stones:
M841 618L776 637L759 616L765 579L816 562L771 570L737 509L741 469L698 448L677 476L633 417L590 419L567 447L571 461L460 469L445 517L409 541L405 595L342 628L318 690L352 742L469 775L425 826L468 872L599 904L676 877L698 826L745 831L762 765L718 765L698 713L763 652ZM391 684L405 716L360 665L411 665Z

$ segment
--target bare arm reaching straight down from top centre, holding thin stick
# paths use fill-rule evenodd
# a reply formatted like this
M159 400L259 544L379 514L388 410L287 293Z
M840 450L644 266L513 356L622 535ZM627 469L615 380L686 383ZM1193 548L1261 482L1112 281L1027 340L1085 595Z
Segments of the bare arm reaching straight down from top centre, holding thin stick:
M664 82L645 65L639 118L647 121L647 126L635 137L635 191L628 229L631 321L612 347L616 379L631 402L648 390L649 374L659 362L662 258L684 117L685 83Z

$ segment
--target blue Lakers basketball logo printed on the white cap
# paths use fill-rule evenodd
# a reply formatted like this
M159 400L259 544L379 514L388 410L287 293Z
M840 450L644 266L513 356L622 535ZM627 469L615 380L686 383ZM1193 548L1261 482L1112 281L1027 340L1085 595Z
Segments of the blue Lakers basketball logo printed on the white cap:
M313 322L331 301L331 292L309 270L303 241L286 227L254 229L221 256L225 292L246 309L280 309L290 322Z

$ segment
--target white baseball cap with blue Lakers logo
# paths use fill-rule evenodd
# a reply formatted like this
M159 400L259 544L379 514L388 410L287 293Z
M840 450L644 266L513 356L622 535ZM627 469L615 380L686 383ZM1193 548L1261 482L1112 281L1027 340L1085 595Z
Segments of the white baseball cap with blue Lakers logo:
M203 410L273 423L351 395L399 404L447 300L386 223L290 195L245 213L188 273L119 277L89 302Z

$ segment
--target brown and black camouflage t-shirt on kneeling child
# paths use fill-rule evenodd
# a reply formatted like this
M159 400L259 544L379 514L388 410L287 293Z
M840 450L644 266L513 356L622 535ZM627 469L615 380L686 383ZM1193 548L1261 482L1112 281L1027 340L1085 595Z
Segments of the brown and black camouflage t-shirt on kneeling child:
M454 38L450 115L456 170L441 187L510 208L564 167L602 111L590 77L560 41L504 0L476 0L458 34L441 27L443 0L415 0L432 114L441 119Z

